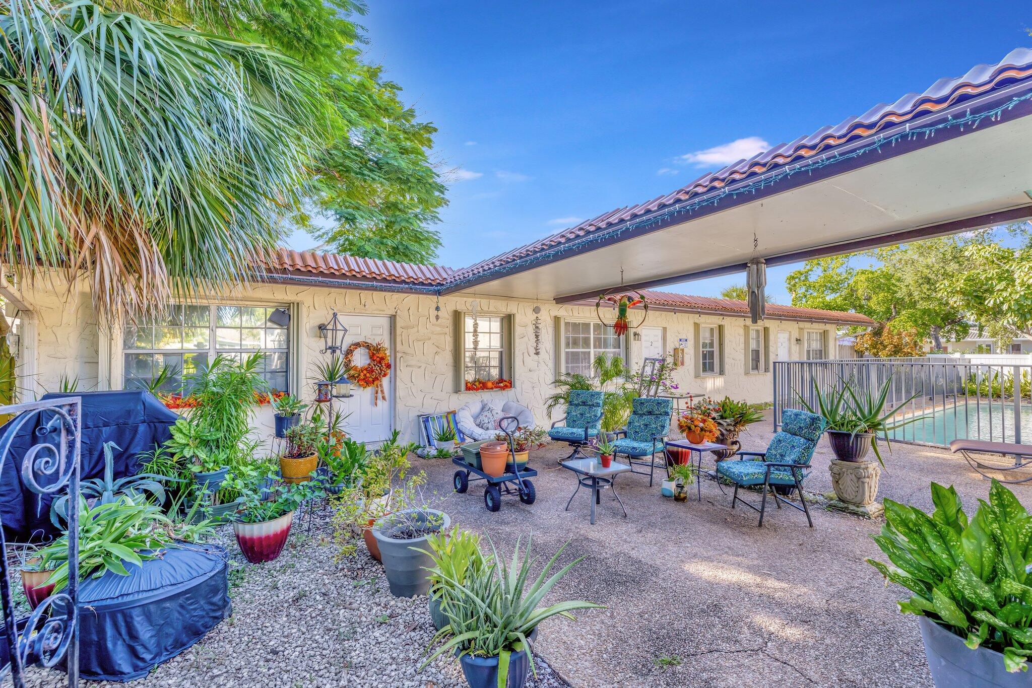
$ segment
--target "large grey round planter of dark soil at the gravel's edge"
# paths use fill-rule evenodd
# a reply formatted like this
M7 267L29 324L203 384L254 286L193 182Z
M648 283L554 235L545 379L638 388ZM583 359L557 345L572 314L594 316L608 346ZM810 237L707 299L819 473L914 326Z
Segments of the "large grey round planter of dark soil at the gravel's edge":
M431 516L437 517L438 523L431 526L433 531L446 530L451 523L447 514L433 509L409 509L398 514L407 515L417 524L426 524ZM426 569L433 566L433 561L428 554L412 548L427 549L426 535L409 539L394 537L401 529L393 523L396 518L397 514L391 514L373 525L373 537L380 549L390 592L395 597L425 595L430 589Z

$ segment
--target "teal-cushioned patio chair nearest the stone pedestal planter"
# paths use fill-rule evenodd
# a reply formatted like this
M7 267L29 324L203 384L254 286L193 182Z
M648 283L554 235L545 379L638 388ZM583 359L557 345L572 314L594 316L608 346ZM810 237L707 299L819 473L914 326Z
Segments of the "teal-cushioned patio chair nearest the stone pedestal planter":
M764 498L760 509L745 499L741 500L752 511L760 512L760 527L764 525L767 491L770 489L778 509L781 509L781 502L784 501L793 509L803 512L812 528L813 519L810 518L810 510L806 506L806 497L803 496L803 481L809 473L813 450L816 449L817 440L827 427L828 421L816 414L785 408L781 413L781 431L774 435L766 452L738 452L736 456L741 457L740 460L718 462L717 476L735 484L731 507L734 509L739 501L738 488L763 485ZM759 457L759 459L746 457ZM773 489L775 487L788 488L786 495L792 494L792 488L796 488L799 500L803 503L802 507L778 496L777 490Z

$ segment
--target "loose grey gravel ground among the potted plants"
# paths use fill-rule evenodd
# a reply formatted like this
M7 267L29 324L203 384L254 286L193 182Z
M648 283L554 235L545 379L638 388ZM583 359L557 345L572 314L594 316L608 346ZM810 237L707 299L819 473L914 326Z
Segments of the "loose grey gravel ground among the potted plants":
M180 656L129 685L140 688L465 686L458 662L439 658L418 670L433 636L425 596L394 597L383 567L359 546L344 564L333 561L327 523L317 510L313 534L295 522L279 559L248 563L229 527L218 539L232 555L233 615ZM12 582L13 585L20 585ZM542 633L543 634L543 633ZM541 659L535 688L566 686ZM65 686L64 674L31 669L30 688ZM126 684L84 682L114 687Z

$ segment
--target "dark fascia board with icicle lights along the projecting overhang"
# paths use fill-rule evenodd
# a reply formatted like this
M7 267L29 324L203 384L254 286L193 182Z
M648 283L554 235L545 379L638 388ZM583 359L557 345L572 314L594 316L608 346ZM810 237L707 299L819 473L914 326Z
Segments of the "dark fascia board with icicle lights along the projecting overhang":
M516 267L525 268L533 265L537 265L538 263L549 261L553 258L562 256L563 254L584 249L585 247L589 247L593 243L601 243L604 241L608 241L609 239L612 239L613 237L619 236L623 233L632 232L644 227L649 227L651 225L657 225L664 223L677 216L682 216L682 215L690 216L700 208L710 205L717 205L725 199L734 199L743 194L754 195L756 191L764 189L766 187L773 186L783 179L787 179L792 177L793 174L800 174L802 172L812 174L814 170L818 170L824 167L828 167L830 165L836 165L839 163L846 162L848 160L852 160L853 158L858 158L862 155L870 153L871 151L881 151L882 146L885 145L895 145L897 141L901 141L904 139L911 140L922 135L924 135L925 138L931 138L932 136L935 135L935 132L954 127L960 127L961 131L964 130L964 127L970 127L971 129L975 129L977 128L978 124L983 122L985 120L988 119L995 122L997 121L998 118L1000 118L1003 114L1003 112L1012 109L1019 103L1029 99L1032 99L1032 93L1023 96L1017 96L1007 101L1006 103L999 105L998 107L994 107L993 109L986 110L983 112L972 114L971 110L968 109L967 113L962 118L954 118L953 116L947 116L947 119L945 121L935 125L915 127L912 129L909 127L909 125L907 125L903 131L900 131L891 136L885 136L884 134L878 134L874 138L874 140L868 145L859 148L854 151L850 151L849 153L843 154L843 153L829 152L821 154L823 158L820 159L813 158L811 160L802 161L799 163L793 163L775 172L766 172L764 173L764 176L751 183L743 184L739 187L736 187L735 189L724 188L719 191L707 192L703 196L681 201L680 203L672 205L669 208L663 210L662 212L649 215L635 222L619 225L613 229L594 232L587 236L583 236L579 239L567 241L559 245L535 253L530 256L525 256L523 258L519 258L517 260L508 263L496 265L490 269L484 270L483 272L477 272L476 274L471 274L469 276L461 277L459 280L448 281L441 288L453 289L455 287L461 287L470 282L476 282L476 281L481 281L485 277L490 277L498 272L509 271Z

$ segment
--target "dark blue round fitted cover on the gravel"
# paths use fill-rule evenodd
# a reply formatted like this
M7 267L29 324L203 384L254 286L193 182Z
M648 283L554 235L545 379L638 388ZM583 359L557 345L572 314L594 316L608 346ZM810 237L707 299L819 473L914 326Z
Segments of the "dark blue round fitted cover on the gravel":
M164 550L79 588L79 670L94 681L132 681L168 661L230 615L229 556L218 545Z

